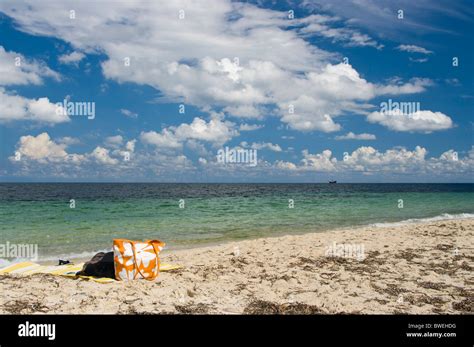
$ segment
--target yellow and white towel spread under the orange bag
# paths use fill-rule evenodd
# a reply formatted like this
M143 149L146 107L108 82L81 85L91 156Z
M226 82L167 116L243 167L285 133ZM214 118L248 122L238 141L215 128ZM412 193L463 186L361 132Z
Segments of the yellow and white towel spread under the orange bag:
M38 273L45 273L57 276L66 276L74 278L82 278L85 280L92 280L98 283L116 282L112 278L93 277L93 276L76 276L76 272L82 270L84 263L66 264L66 265L40 265L30 261L16 263L0 269L0 274L17 274L28 276ZM180 269L180 265L160 264L160 271L171 271Z

